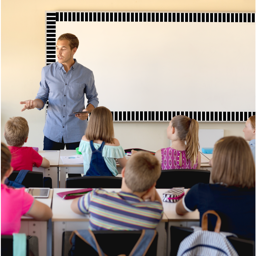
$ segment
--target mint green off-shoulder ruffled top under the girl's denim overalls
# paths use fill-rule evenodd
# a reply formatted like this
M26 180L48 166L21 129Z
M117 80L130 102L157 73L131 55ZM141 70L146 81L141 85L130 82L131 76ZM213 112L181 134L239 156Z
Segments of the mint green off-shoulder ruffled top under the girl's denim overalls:
M99 149L101 144L93 143L95 149ZM79 145L79 151L82 152L83 159L84 159L84 175L90 168L90 162L92 158L92 149L90 147L89 141L81 140ZM123 158L125 157L125 152L121 146L108 146L105 145L102 150L102 156L108 169L114 176L117 176L118 172L116 169L116 161L115 158Z

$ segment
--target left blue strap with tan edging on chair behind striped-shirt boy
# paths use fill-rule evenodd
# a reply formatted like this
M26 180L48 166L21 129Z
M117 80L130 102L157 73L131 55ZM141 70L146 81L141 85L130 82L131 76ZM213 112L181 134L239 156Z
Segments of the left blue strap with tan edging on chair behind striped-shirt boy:
M76 234L80 239L82 239L85 243L90 245L96 252L98 252L99 256L107 256L100 245L98 244L93 232L91 230L74 230L69 238L69 242L73 244L72 238Z

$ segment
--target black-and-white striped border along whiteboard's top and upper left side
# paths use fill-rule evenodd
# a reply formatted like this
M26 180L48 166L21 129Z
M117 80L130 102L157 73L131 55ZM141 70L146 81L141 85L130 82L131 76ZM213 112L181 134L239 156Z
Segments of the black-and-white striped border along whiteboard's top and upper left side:
M56 61L56 21L255 22L255 13L46 12L46 65Z

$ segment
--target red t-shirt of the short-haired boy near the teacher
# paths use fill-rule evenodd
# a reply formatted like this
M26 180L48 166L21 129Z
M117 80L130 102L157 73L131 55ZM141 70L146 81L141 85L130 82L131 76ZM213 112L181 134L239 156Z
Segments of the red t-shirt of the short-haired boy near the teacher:
M32 171L33 165L39 167L43 162L43 157L32 147L9 146L8 148L12 154L11 166L14 171Z

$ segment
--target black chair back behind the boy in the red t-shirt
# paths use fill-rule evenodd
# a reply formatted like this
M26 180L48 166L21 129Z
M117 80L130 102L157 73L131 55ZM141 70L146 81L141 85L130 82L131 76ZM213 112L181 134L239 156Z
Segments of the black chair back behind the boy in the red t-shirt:
M19 171L13 171L9 176L9 180L15 180L18 176ZM43 183L43 173L42 172L28 172L21 183L26 188L28 187L44 187Z

